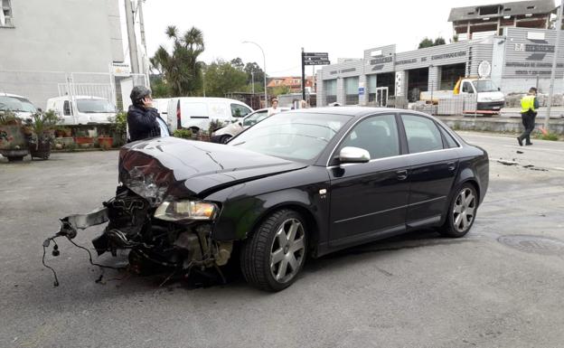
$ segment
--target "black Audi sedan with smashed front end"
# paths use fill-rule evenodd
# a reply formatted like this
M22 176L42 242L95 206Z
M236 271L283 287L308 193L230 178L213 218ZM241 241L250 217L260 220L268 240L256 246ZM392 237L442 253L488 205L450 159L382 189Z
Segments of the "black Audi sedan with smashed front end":
M116 197L62 219L59 234L108 222L95 248L130 249L132 268L221 272L239 260L251 285L278 291L308 257L423 228L464 236L488 173L484 149L437 118L300 109L227 145L164 137L123 147Z

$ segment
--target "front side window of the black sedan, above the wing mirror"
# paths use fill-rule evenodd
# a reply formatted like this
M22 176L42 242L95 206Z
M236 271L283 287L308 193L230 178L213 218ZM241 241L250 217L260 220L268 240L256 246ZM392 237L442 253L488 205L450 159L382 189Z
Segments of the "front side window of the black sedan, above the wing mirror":
M360 147L371 159L400 155L400 138L393 114L366 118L359 122L341 145Z

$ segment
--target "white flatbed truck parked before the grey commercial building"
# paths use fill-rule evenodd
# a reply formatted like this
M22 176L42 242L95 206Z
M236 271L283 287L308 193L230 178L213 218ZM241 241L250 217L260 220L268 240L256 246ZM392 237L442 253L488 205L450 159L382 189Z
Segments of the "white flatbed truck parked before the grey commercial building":
M448 99L456 95L475 96L478 113L498 113L505 106L505 95L495 87L494 81L479 78L460 78L455 89L421 92L420 99L436 103L438 99Z

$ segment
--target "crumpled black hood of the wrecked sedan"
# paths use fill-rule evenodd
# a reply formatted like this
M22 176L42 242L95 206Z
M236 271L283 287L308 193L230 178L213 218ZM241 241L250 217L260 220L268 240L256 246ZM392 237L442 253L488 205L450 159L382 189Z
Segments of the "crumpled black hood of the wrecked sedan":
M168 136L122 147L119 181L155 206L168 196L202 196L305 166L236 146Z

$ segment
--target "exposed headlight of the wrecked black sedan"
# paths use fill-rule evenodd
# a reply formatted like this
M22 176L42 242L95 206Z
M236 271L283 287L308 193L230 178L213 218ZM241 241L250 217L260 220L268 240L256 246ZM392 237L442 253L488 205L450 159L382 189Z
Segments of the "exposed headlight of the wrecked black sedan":
M213 220L218 210L212 202L165 201L156 208L155 218L165 221Z

